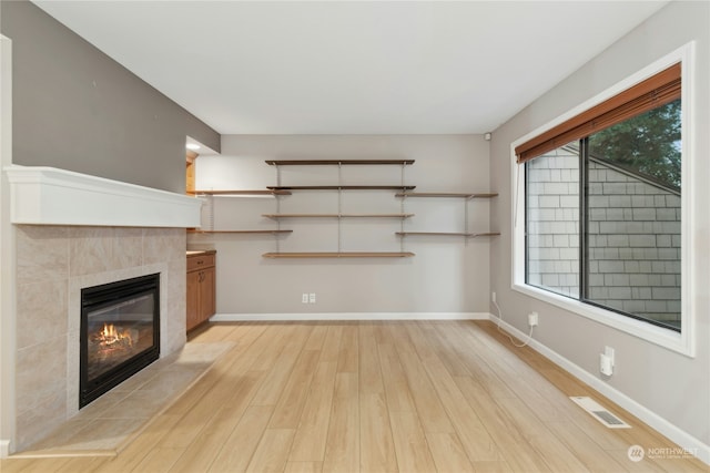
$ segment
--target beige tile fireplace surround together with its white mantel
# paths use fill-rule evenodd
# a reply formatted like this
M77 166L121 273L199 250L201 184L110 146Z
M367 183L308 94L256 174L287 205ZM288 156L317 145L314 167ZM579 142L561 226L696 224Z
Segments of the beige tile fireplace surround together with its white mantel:
M10 184L3 204L12 224L7 241L14 278L10 298L3 298L13 328L3 331L3 346L13 349L12 363L3 364L3 380L10 380L3 388L11 395L0 398L9 425L0 456L28 448L79 413L82 289L159 274L160 300L153 301L160 307L159 338L153 343L158 330L133 316L138 328L120 322L118 329L138 330L138 343L151 340L160 358L182 349L185 228L200 225L201 207L183 194L64 169L9 165L2 171ZM118 338L113 343L129 343ZM103 368L98 372L105 374ZM85 401L93 395L99 394L91 392Z

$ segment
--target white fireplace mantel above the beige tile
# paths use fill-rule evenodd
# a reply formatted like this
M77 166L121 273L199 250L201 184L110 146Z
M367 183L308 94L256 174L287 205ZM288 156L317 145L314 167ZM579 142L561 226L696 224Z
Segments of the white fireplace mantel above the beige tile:
M6 166L10 219L30 225L199 227L202 202L44 166Z

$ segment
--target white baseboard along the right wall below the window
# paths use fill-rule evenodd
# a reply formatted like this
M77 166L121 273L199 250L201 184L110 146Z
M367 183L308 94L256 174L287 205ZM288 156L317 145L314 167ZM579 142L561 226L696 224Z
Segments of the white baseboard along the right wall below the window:
M498 317L490 315L490 320L495 323L498 323ZM519 340L527 340L528 335L507 323L505 320L500 321L500 327L510 332L514 337L517 337ZM582 381L585 384L595 389L610 401L616 402L622 409L626 409L631 414L636 415L638 419L643 421L650 428L655 429L662 435L666 435L671 441L676 442L679 446L687 449L689 453L692 453L698 457L698 460L702 461L706 464L710 465L710 445L702 443L700 440L696 439L693 435L688 432L679 429L672 423L668 422L666 419L661 418L650 409L639 404L633 399L629 398L621 391L610 387L605 383L602 380L594 376L592 373L581 369L579 366L572 363L567 358L557 353L556 351L550 350L545 345L539 341L531 339L528 346L562 368L565 371L569 372L575 378ZM645 448L657 448L657 446L667 446L667 445L641 445Z

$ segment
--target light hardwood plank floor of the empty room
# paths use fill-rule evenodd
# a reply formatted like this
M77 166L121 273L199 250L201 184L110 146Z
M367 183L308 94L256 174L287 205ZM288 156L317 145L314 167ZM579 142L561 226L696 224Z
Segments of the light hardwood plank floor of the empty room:
M677 445L487 321L245 322L191 337L215 340L236 346L116 456L8 459L0 471L709 471L630 461L630 445ZM632 429L602 426L569 395Z

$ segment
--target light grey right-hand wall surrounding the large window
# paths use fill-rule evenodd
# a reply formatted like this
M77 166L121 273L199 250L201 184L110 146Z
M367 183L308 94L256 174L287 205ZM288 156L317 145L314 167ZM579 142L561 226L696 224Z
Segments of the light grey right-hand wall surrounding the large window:
M507 320L517 329L527 331L526 313L538 311L540 323L535 338L546 349L581 368L600 385L608 387L609 392L618 394L617 400L627 400L627 405L636 405L637 412L646 412L645 420L656 422L655 426L663 433L674 433L676 439L684 439L687 444L682 446L701 445L699 454L706 462L710 461L709 19L710 3L671 2L496 130L490 169L491 186L500 192L500 197L491 206L491 222L503 232L503 236L491 245L491 289L497 291ZM514 213L510 181L515 166L510 144L692 40L696 41L697 60L691 76L696 90L691 124L694 133L690 140L697 158L691 184L697 193L693 202L698 205L688 214L693 228L691 251L694 273L683 285L696 289L691 294L691 307L697 317L694 358L511 290L510 260ZM616 372L608 381L598 374L599 352L606 345L616 348L617 358Z

